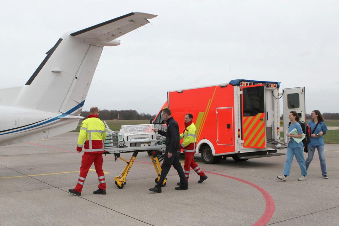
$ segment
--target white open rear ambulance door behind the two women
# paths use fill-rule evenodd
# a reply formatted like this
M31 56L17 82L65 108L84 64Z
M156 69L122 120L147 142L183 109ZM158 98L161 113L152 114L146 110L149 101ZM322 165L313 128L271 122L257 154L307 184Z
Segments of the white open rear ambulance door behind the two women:
M282 107L284 115L284 137L286 136L286 130L288 130L288 115L290 111L296 111L300 121L306 122L305 112L305 87L296 87L283 89ZM284 139L285 140L285 139Z

